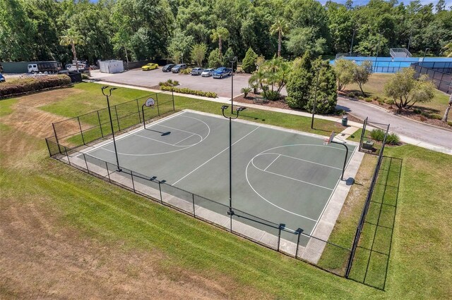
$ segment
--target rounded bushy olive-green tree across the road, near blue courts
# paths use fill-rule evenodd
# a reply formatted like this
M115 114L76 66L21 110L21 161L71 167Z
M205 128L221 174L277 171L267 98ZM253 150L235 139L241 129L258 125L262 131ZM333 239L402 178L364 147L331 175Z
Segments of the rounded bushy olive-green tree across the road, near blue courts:
M427 75L421 75L415 80L415 70L412 68L403 68L384 85L384 93L393 98L399 112L416 103L431 101L434 90L435 87Z

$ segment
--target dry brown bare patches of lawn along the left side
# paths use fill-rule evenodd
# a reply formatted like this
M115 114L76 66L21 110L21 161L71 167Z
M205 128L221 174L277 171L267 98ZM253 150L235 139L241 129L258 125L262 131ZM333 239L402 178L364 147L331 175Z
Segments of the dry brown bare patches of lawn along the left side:
M29 174L45 174L52 163L40 143L52 135L52 122L64 117L38 107L78 92L22 96L13 112L0 118L0 177L3 187L8 185L0 192L0 299L228 298L227 285L177 266L165 268L165 257L156 250L131 251L82 236L64 223L67 213L45 194L11 188L13 180L20 185Z

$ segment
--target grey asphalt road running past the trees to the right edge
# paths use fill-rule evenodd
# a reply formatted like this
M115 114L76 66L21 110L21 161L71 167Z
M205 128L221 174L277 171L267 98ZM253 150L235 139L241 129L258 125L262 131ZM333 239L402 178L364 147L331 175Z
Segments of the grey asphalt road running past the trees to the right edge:
M364 120L369 117L370 121L391 124L390 131L399 135L405 135L422 142L445 146L452 149L452 131L424 125L422 123L403 118L383 109L364 104L357 100L338 97L338 109L343 109L357 118Z

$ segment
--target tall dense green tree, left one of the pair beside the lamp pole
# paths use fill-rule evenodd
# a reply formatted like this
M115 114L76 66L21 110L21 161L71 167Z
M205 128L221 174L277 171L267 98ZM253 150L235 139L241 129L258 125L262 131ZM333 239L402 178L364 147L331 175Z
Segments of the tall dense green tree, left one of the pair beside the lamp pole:
M311 61L309 54L296 58L287 80L287 104L292 108L304 108L309 101L309 89L312 85Z

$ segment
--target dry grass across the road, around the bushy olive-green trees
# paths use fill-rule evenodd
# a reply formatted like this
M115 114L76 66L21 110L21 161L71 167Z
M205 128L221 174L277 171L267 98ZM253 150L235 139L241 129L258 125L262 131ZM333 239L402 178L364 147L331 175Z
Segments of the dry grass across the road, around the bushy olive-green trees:
M378 96L382 99L387 98L386 96L384 96L383 87L385 82L393 76L393 74L372 74L369 82L363 85L364 92L367 94L367 96ZM361 91L359 90L357 84L347 85L347 87L345 87L345 92L355 92L355 94L361 95ZM442 116L448 104L448 95L446 93L440 92L437 89L435 89L434 94L435 96L432 101L423 104L417 104L413 106L413 108L421 108L429 113L438 113Z

